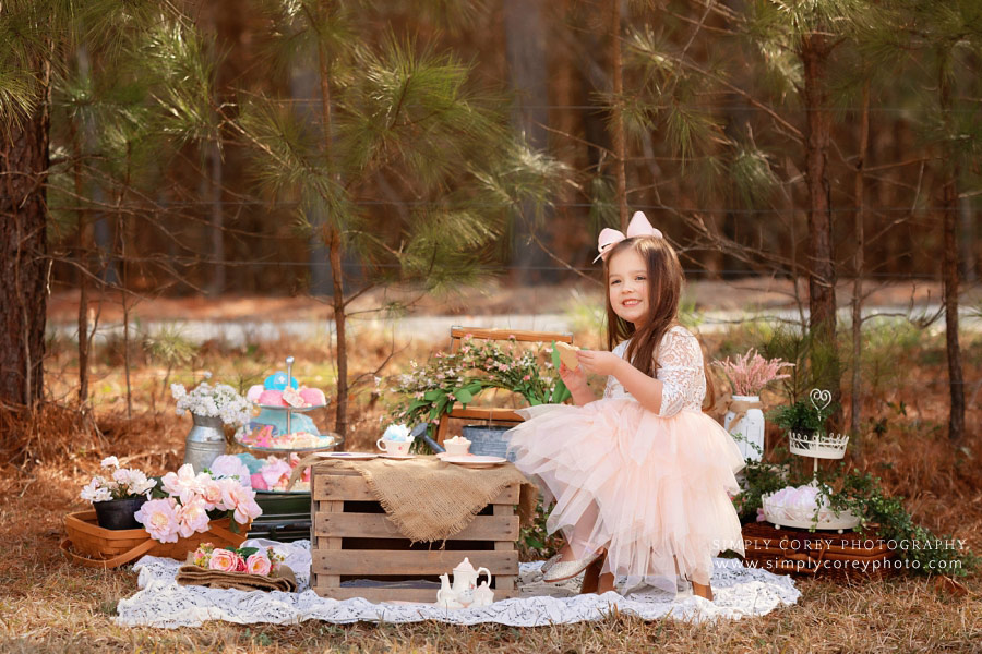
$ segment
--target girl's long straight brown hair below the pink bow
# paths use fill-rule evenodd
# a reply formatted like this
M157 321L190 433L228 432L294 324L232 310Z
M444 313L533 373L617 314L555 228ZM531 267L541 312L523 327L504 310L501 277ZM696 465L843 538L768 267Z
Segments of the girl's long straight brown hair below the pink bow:
M648 322L635 326L627 323L614 313L610 303L610 265L609 262L624 250L633 249L645 262L648 274ZM679 324L679 304L682 301L682 282L685 274L679 255L669 242L662 238L635 237L624 239L613 245L610 254L603 262L603 280L607 282L607 349L613 351L614 347L623 340L631 339L624 358L631 365L654 377L658 372L655 361L656 350L664 338L666 332ZM716 398L716 388L712 376L704 360L704 374L706 375L706 402L710 404Z

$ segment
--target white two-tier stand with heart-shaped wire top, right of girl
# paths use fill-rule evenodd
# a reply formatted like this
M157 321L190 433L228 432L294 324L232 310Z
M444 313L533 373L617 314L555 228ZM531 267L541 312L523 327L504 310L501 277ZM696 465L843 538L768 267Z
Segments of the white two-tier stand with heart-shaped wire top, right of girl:
M824 419L825 411L828 410L831 403L831 392L815 388L809 393L809 399L818 412L819 419ZM824 423L824 420L819 420L819 422ZM792 455L812 458L813 479L811 485L817 486L818 459L841 459L845 457L849 436L845 434L801 434L791 432L789 441L789 449ZM819 516L816 520L815 510L780 506L773 500L774 495L776 494L764 495L761 497L761 501L764 507L764 519L773 523L775 529L790 526L807 530L833 530L841 534L848 529L857 528L860 523L860 519L849 511L840 511L836 514L830 509L824 510L825 516ZM821 498L821 495L818 497Z

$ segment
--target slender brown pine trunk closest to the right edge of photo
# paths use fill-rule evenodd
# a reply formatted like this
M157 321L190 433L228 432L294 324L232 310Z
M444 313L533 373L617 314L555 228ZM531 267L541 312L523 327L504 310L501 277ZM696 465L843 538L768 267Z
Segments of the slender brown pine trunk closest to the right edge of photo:
M942 114L951 134L951 85L939 66L938 97ZM945 346L948 355L948 386L950 391L950 410L948 412L948 439L960 441L965 436L965 379L961 375L961 347L958 342L958 240L956 226L958 221L958 162L954 156L945 157L943 185L941 190L942 229L944 233L944 252L942 277L945 296Z

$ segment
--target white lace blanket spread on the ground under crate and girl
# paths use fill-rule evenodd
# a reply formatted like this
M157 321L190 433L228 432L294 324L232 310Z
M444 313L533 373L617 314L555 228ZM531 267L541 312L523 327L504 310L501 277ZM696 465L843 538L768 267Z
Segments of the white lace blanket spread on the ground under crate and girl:
M243 592L203 586L181 586L175 581L181 562L145 556L134 566L140 573L140 591L120 600L116 622L124 627L197 627L206 620L225 620L239 625L294 625L304 620L334 623L357 621L419 622L436 620L455 625L496 622L512 627L599 620L614 606L621 613L645 620L671 616L680 620L704 621L763 616L786 605L795 604L801 593L789 577L766 570L744 568L736 559L716 559L712 574L715 602L707 602L683 591L678 595L649 586L626 590L624 595L577 595L579 578L563 584L546 584L539 571L541 561L522 564L520 597L502 600L482 608L446 610L435 604L372 604L355 598L338 602L319 597L310 590L310 543L273 543L247 541L244 546L273 545L286 555L286 565L297 573L297 593L278 591ZM352 585L358 585L354 582ZM436 596L439 584L434 584Z

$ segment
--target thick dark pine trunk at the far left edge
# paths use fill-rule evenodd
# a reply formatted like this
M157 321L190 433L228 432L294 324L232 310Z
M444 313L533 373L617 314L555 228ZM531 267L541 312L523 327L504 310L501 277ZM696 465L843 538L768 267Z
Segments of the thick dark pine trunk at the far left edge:
M29 409L44 390L48 125L43 101L0 137L0 402L8 407Z

